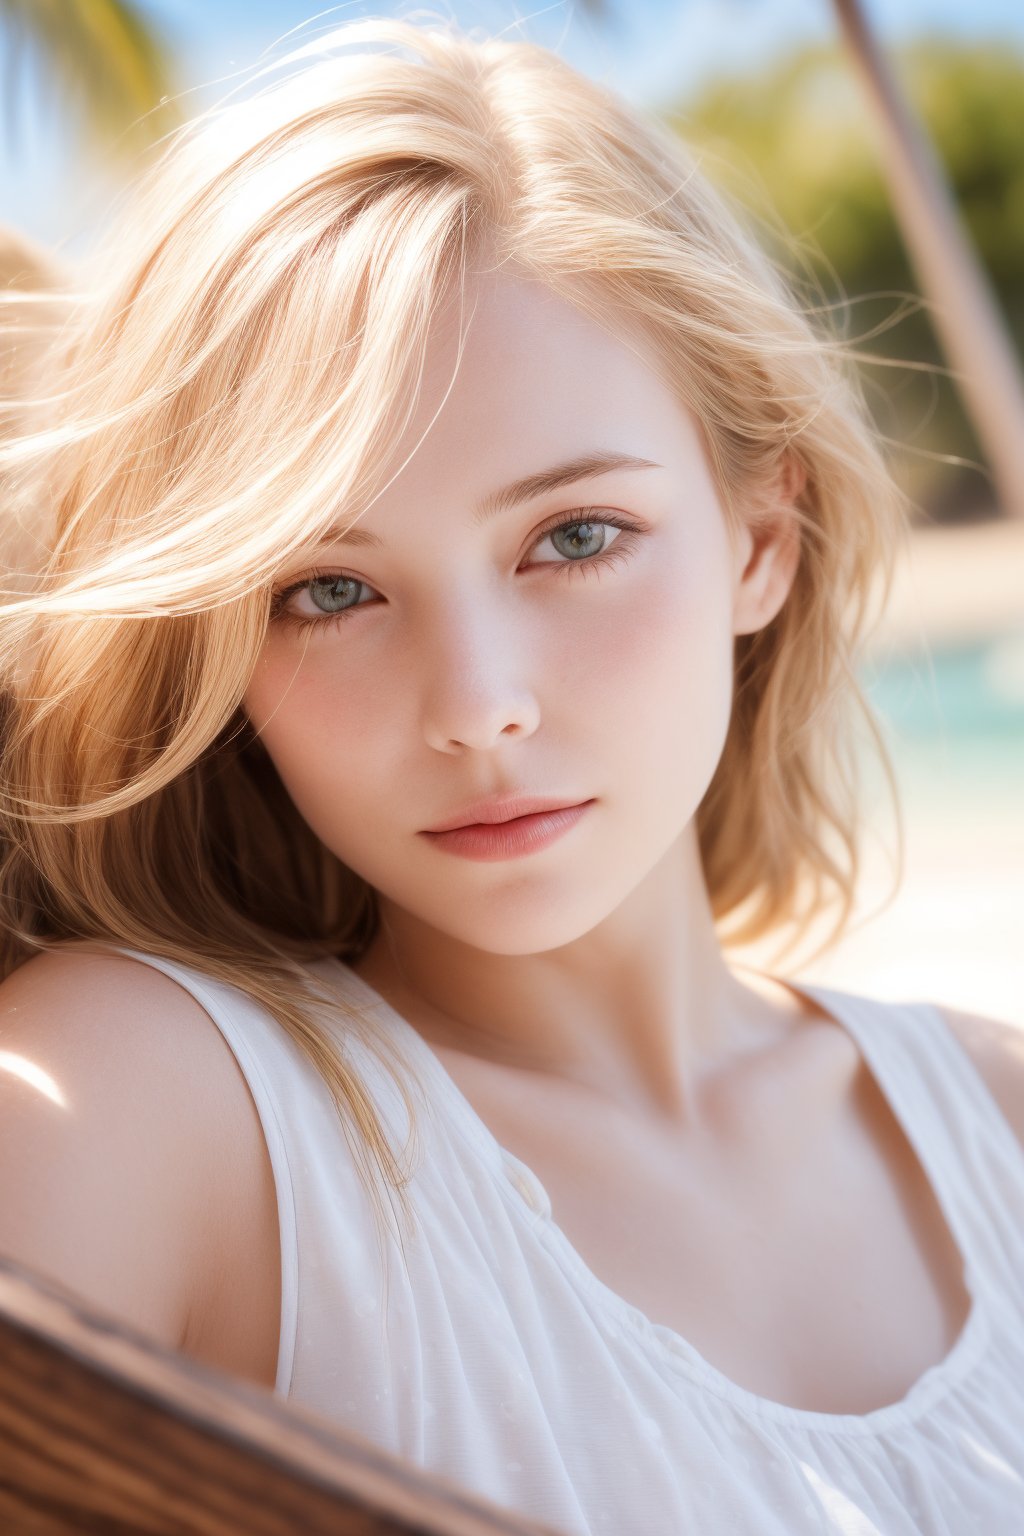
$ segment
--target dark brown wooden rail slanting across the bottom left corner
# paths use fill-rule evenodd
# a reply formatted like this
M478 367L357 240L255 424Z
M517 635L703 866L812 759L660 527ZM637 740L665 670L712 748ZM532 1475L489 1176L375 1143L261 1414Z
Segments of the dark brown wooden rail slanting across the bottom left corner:
M5 1536L554 1536L0 1256Z

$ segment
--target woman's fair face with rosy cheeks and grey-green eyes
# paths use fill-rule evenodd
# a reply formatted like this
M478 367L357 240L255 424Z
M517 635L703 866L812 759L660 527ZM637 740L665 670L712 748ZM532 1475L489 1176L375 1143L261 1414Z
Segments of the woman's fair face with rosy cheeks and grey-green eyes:
M244 707L345 865L453 938L527 954L593 929L689 826L726 737L732 637L781 607L795 550L745 574L752 539L731 548L695 424L652 361L525 280L488 275L467 300L451 393L359 521L376 542L281 568L278 590L307 585ZM441 326L391 470L453 361ZM591 455L646 462L543 488ZM422 836L505 791L593 803L520 857Z

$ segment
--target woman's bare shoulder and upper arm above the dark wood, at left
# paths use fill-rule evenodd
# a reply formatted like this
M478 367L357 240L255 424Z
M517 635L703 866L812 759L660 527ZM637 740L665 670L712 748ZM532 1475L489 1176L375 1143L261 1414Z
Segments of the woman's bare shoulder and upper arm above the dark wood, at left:
M276 1243L276 1200L252 1095L206 1009L143 960L48 951L0 983L0 1250L238 1369L209 1318L267 1217ZM263 1273L273 1283L273 1264Z

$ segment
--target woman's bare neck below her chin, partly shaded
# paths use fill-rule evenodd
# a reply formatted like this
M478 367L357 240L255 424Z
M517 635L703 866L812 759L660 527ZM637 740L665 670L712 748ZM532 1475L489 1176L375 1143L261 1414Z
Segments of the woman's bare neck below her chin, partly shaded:
M493 954L381 899L379 932L352 969L433 1044L679 1123L695 1118L709 1075L788 1034L809 1008L729 968L686 836L567 945Z

